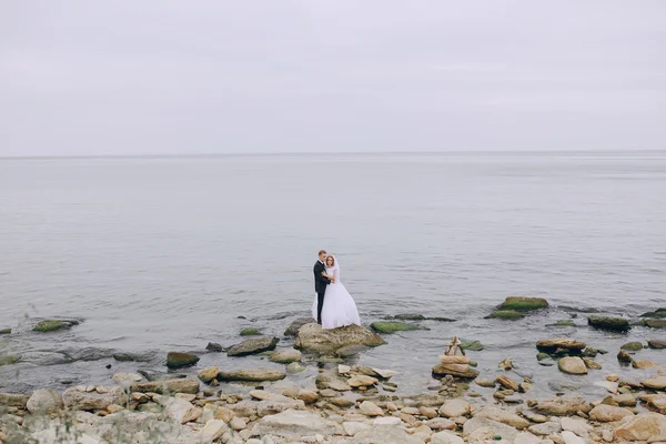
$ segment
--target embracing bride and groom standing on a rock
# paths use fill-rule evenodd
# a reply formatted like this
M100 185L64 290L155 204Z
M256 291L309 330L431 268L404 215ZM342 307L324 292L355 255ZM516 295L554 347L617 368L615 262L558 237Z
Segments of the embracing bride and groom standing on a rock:
M356 303L340 281L340 263L324 250L314 263L314 290L312 317L322 329L336 329L351 324L361 325Z

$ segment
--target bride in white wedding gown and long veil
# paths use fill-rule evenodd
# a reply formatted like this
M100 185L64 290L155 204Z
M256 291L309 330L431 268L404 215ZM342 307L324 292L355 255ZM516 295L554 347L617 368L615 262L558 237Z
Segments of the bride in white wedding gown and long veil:
M336 329L351 324L361 325L361 317L352 295L340 281L340 263L333 255L326 256L324 276L331 280L326 285L324 306L322 307L322 329ZM312 316L316 319L316 296L312 306Z

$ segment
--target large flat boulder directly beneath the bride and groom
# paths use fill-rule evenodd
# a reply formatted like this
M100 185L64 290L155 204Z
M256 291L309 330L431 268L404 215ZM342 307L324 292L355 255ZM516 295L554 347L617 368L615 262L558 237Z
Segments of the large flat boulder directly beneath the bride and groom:
M309 353L334 354L349 345L377 346L384 340L361 325L347 325L323 330L316 323L305 324L299 330L294 347Z

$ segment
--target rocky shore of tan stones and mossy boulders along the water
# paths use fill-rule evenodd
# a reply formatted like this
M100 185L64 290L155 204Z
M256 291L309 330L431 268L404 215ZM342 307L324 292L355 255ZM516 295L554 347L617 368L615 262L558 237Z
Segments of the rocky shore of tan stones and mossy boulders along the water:
M507 299L497 312L511 313L495 319L513 322L546 307L544 300ZM607 351L639 372L628 377L604 372L595 359L606 351L575 337L534 339L535 360L564 375L592 379L606 391L596 398L581 396L575 387L543 397L538 390L543 382L519 372L511 359L494 363L493 377L486 377L462 354L434 359L433 382L423 393L402 393L393 382L395 372L344 361L389 340L379 332L413 330L401 327L411 321L401 317L372 330L333 331L303 319L285 332L295 336L293 347L276 349L279 341L260 332L245 332L246 337L229 347L208 347L210 353L230 356L265 355L278 366L253 362L241 369L196 369L199 356L172 352L168 367L196 369L198 377L118 373L109 384L71 386L63 393L52 389L0 393L0 442L666 443L666 354L655 362L636 355L643 347L663 350L664 341L635 341ZM602 316L589 325L617 332L632 327ZM443 349L450 340L442 339ZM463 343L463 349L475 345ZM307 356L317 356L317 372L301 377Z

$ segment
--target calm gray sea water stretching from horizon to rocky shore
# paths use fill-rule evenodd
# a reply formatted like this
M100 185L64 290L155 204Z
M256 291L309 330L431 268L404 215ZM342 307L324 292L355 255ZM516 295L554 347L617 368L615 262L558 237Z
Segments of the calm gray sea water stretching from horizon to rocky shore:
M458 320L424 322L431 330L386 336L360 356L400 372L401 389L432 384L457 335L485 344L471 353L483 374L511 356L547 394L539 382L571 377L539 366L534 342L566 335L610 351L603 371L574 380L603 393L588 385L608 372L647 373L618 367L622 343L666 331L593 331L584 313L557 306L633 317L666 305L666 153L0 160L0 329L14 331L0 346L23 356L0 367L0 389L164 371L168 351L230 345L245 326L282 337L309 312L322 248L339 256L364 322L404 312ZM483 319L512 294L553 309ZM30 331L57 316L83 322ZM581 326L546 326L569 316ZM81 350L102 359L44 365L49 353ZM117 363L109 351L154 357ZM639 357L666 364L666 352ZM210 364L272 365L206 354L185 373Z

